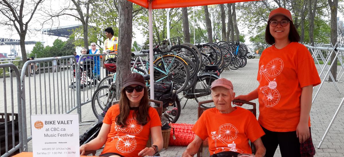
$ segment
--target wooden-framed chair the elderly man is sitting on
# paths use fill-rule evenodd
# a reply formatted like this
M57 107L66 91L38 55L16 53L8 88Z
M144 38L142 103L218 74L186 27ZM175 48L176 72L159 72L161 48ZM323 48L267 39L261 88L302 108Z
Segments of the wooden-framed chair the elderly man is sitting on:
M198 102L198 118L199 119L202 115L202 113L209 109L209 108L204 108L204 107L201 107L201 104L207 104L207 103L211 103L211 102L214 102L214 100L207 100L207 101L201 101L201 102ZM249 111L251 111L255 117L257 117L257 109L256 109L256 103L253 103L253 102L249 102L249 101L244 101L244 100L233 100L233 102L241 102L243 104L248 104L248 105L251 105L253 108L252 109L247 109ZM209 138L209 137L208 137ZM255 146L251 143L251 141L249 141L250 145L251 145L251 149L252 149L252 154L254 154L256 152L256 148ZM204 147L206 149L206 147ZM203 157L203 156L210 156L209 152L208 152L209 149L206 149L205 151L206 152L203 152L203 142L200 146L200 148L198 149L198 152L197 152L197 157Z

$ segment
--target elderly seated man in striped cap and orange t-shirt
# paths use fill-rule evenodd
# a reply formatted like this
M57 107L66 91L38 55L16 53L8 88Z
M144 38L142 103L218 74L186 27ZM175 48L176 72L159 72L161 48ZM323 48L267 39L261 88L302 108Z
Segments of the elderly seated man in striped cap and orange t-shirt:
M248 140L256 147L256 157L265 155L260 139L265 133L253 113L232 107L235 97L233 84L227 79L215 80L211 85L215 108L207 109L193 126L195 139L187 146L183 157L195 155L201 143L208 138L210 157L237 157L241 153L252 154Z

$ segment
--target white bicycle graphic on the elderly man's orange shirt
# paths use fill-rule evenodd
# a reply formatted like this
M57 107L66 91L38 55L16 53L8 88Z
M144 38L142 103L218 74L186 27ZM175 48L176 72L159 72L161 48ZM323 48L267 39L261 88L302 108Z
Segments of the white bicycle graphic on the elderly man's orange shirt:
M233 140L237 137L238 130L235 128L232 124L223 124L218 128L219 134L216 134L216 131L211 132L212 139L215 141L215 147L216 149L222 149L222 152L224 151L232 151L232 152L238 152L243 153L242 150L236 148L236 144ZM220 141L221 143L227 145L227 147L217 147L217 141ZM233 141L233 143L230 143L230 141Z

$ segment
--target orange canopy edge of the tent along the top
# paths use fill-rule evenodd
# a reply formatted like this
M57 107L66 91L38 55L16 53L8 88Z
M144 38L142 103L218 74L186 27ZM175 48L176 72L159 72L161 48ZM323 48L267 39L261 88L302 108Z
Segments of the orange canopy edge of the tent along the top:
M128 0L144 8L148 8L148 0ZM248 2L252 0L153 0L152 9L184 8L212 4Z

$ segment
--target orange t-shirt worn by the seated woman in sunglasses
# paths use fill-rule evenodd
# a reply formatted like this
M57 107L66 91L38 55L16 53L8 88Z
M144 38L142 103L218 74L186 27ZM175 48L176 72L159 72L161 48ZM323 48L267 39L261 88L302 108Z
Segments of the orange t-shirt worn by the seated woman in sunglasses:
M103 123L110 124L111 129L103 149L104 153L118 153L125 157L138 157L138 153L146 148L150 135L150 128L161 126L157 110L150 107L148 110L150 120L146 125L137 124L133 118L134 110L130 110L127 118L127 126L120 128L116 124L116 117L119 114L119 105L113 105L106 112Z

